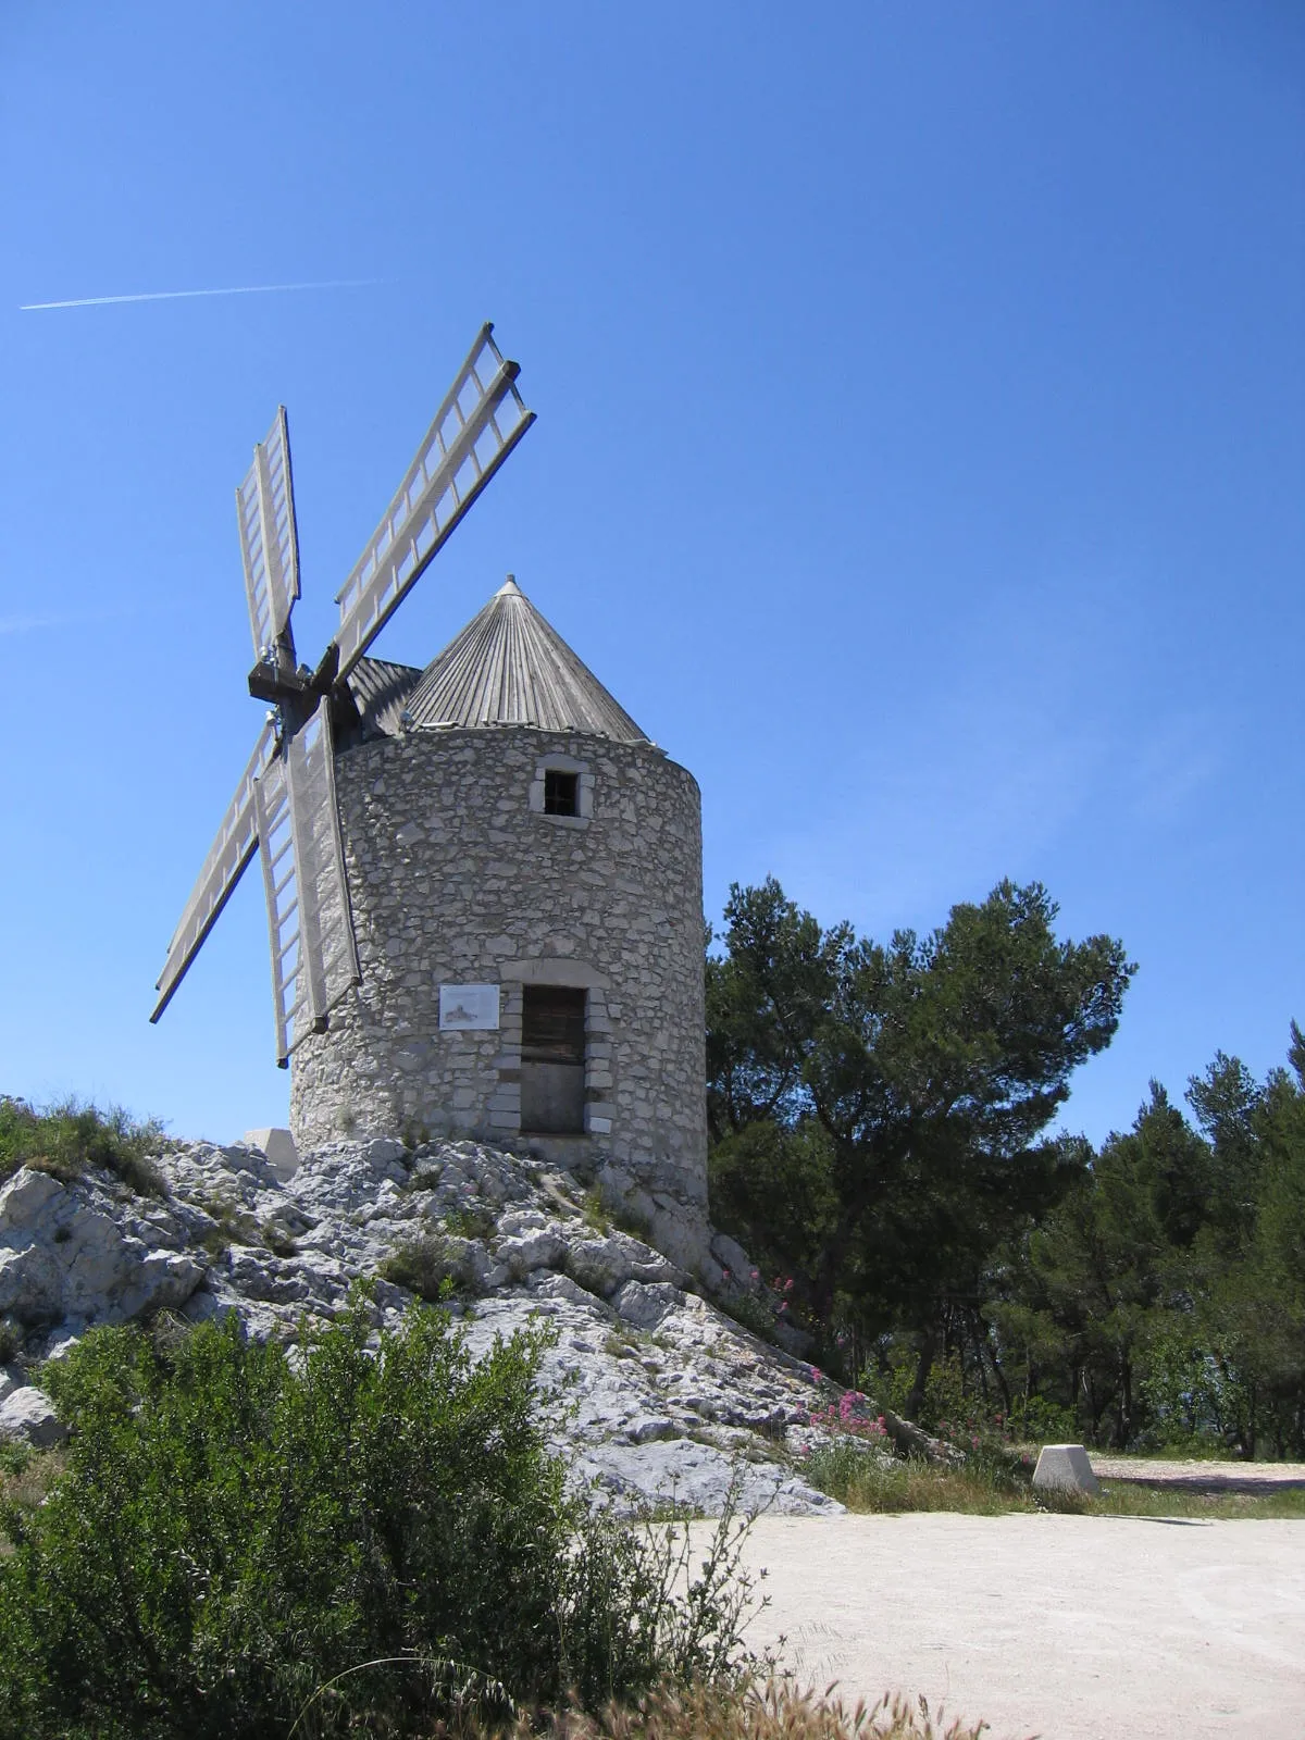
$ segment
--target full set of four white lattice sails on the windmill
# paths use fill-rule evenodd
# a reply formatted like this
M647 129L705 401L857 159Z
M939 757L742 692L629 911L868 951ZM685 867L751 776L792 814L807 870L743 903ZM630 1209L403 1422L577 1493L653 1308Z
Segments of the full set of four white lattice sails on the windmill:
M268 903L277 1063L360 983L336 806L336 733L357 720L348 677L454 525L534 423L491 322L480 327L435 421L353 572L339 628L315 670L298 663L291 611L299 543L285 407L237 491L254 637L249 693L271 703L158 978L157 1021L258 851Z

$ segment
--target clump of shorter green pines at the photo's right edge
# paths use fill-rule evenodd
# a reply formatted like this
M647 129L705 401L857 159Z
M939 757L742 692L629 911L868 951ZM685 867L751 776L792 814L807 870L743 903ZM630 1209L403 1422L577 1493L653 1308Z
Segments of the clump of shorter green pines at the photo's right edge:
M1263 1084L1218 1053L1188 1084L1199 1129L1152 1082L1013 1251L999 1338L1084 1437L1305 1448L1305 1042Z

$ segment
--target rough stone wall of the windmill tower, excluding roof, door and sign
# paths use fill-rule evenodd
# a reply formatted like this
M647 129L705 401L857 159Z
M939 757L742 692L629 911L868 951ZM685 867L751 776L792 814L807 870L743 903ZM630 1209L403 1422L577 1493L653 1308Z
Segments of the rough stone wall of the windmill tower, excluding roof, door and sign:
M543 773L579 774L576 816ZM291 1060L301 1148L341 1134L520 1140L522 985L588 992L572 1164L640 1211L706 1202L701 821L651 745L419 729L338 755L364 983ZM440 1032L440 983L498 983L498 1032ZM585 1154L588 1150L588 1154ZM609 1192L612 1194L612 1192ZM658 1202L658 1199L663 1199Z

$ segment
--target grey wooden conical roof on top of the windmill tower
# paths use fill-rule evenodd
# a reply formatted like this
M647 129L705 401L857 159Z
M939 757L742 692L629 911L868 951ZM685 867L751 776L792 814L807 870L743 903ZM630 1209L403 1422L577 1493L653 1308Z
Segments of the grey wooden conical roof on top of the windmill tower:
M414 727L538 726L647 743L510 574L425 668L405 710Z

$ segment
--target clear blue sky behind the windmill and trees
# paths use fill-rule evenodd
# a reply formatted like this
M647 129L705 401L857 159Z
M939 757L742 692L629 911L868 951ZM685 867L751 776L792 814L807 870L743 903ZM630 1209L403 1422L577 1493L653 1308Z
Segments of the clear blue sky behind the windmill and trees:
M1067 1124L1305 1020L1295 0L0 5L0 1091L284 1122L233 489L289 407L301 654L480 320L538 411L378 652L513 571L774 872L1004 875L1140 962ZM21 311L317 280L364 287Z

